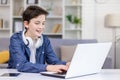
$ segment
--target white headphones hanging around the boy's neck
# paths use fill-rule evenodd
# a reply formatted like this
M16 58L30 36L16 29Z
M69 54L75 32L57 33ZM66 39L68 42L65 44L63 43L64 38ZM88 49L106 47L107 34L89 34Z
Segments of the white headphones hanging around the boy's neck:
M23 31L23 33L22 33L23 42L25 43L26 46L31 48L34 45L34 42L33 42L32 38L25 37L24 33L25 33L25 31ZM35 48L39 48L40 46L42 46L42 44L43 44L43 36L41 35L35 43Z

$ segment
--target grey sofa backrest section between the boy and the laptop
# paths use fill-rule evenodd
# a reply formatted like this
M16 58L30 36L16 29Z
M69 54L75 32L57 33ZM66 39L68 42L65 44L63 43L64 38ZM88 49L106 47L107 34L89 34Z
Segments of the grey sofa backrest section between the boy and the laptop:
M96 39L61 39L61 38L50 38L51 45L56 55L61 59L60 47L63 45L77 45L83 43L97 43Z

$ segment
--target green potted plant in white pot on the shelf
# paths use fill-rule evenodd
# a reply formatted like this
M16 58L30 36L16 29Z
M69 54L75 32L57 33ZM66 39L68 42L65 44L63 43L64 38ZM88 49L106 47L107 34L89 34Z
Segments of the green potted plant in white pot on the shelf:
M73 15L66 15L66 19L70 22L70 27L75 28L75 26L78 26L81 24L81 18L78 18L77 16Z

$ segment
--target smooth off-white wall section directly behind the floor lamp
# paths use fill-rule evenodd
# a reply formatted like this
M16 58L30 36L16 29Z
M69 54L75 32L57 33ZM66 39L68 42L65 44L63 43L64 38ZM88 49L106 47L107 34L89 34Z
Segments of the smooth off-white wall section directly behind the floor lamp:
M106 42L106 41L112 41L114 40L113 37L113 29L107 28L104 25L104 19L107 14L111 13L120 13L120 0L106 0L105 3L99 4L96 3L95 8L95 26L96 26L96 39L99 42ZM116 30L116 35L120 33L120 30ZM119 45L119 44L117 44ZM119 45L120 46L120 45ZM120 47L117 46L116 51L116 68L120 68ZM114 54L111 54L111 56L114 56ZM114 59L114 58L113 58Z

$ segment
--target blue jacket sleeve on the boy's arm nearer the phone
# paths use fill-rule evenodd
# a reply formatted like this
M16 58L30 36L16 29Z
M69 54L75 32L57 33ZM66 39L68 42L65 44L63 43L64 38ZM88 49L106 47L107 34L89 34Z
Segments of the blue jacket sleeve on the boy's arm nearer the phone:
M28 61L25 55L25 45L20 43L18 38L10 40L10 56L14 59L13 63L16 69L20 72L41 72L46 70L45 64L33 64Z

